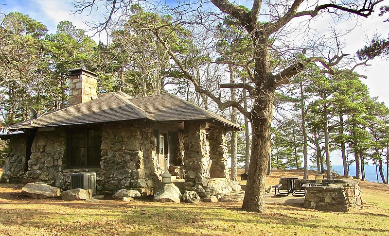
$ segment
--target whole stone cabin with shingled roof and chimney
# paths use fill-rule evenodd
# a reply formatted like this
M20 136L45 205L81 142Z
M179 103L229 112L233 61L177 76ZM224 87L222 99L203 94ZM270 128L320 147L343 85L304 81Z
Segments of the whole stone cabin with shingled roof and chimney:
M172 94L97 96L96 74L70 70L69 106L8 127L2 175L10 182L45 182L70 189L73 172L96 172L98 191L152 192L164 158L176 178L207 185L229 179L226 132L242 130Z

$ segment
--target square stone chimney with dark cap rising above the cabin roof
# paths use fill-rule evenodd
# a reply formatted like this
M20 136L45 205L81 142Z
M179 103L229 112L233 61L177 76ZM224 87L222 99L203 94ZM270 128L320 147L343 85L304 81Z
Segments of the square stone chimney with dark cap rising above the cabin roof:
M83 68L69 70L69 105L97 99L96 74Z

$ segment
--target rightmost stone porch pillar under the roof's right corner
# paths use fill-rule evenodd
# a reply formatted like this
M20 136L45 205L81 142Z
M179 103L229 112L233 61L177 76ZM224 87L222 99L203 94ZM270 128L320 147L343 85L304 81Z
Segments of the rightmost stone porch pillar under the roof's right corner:
M230 178L228 172L228 149L226 142L226 131L221 128L210 128L208 130L210 143L210 157L212 165L210 170L211 178Z

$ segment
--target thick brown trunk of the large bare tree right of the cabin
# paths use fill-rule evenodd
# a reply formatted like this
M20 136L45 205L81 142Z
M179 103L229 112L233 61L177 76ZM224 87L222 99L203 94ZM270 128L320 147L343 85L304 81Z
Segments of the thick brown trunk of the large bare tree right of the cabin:
M271 152L270 126L276 85L270 78L269 35L266 32L256 31L251 33L251 37L255 45L253 73L255 96L251 109L251 157L242 209L265 213L265 179Z

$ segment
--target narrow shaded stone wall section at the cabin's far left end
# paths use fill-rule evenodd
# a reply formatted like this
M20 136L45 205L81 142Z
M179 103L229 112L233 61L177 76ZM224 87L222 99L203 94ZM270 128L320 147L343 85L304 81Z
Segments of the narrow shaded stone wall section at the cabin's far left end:
M26 169L26 135L14 135L9 140L8 154L5 160L1 180L11 183L21 182Z

